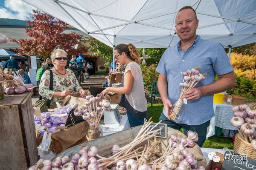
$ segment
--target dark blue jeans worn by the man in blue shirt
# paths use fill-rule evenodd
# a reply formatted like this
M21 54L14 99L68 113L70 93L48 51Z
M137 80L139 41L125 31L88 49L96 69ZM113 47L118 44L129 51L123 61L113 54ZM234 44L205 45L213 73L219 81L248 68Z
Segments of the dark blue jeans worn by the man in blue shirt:
M199 125L177 124L174 121L168 120L168 118L163 114L163 112L159 120L162 120L162 123L167 124L168 127L172 127L173 129L180 130L183 127L185 135L187 135L189 130L196 132L198 134L198 141L195 143L197 143L199 147L203 147L203 143L206 139L207 127L210 124L210 120Z

